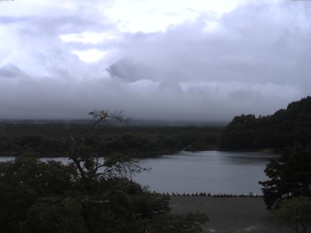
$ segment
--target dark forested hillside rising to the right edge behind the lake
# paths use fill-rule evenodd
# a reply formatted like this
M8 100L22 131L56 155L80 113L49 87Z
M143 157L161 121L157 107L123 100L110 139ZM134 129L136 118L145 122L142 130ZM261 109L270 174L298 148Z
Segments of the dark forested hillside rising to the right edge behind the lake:
M284 148L311 141L311 97L288 104L269 116L235 116L225 127L223 149Z

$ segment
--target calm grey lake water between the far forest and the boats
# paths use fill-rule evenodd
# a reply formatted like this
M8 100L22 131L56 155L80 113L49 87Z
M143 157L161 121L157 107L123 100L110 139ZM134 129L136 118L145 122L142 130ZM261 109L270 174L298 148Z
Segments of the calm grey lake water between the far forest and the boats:
M276 154L237 151L181 151L142 160L151 171L133 177L156 192L211 192L261 194L258 181L265 181L263 172L268 159ZM0 157L0 161L13 159ZM43 158L42 160L48 160ZM53 158L63 163L68 158Z

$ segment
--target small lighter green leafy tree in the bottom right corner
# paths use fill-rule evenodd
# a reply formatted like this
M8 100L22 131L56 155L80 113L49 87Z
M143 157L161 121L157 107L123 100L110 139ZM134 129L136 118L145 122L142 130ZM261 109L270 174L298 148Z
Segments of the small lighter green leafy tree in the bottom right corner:
M306 197L283 200L271 211L277 225L287 226L296 233L307 233L311 227L311 199Z

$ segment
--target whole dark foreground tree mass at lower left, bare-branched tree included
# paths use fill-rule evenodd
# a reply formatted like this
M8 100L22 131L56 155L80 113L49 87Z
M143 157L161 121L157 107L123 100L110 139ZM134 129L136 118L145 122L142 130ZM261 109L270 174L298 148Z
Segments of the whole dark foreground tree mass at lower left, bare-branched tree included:
M94 122L82 137L59 139L66 146L68 165L32 156L0 162L1 232L202 232L205 214L171 214L168 196L132 180L132 174L148 170L139 159L111 153L101 162L86 153L86 139L100 122L127 121L120 112L90 115Z

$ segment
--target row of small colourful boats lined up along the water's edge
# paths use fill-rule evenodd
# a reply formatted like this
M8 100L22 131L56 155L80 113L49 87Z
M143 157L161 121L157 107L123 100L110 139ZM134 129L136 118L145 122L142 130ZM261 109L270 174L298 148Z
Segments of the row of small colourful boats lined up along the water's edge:
M214 198L237 198L237 197L244 197L244 198L258 198L259 195L257 193L253 194L252 192L249 192L248 194L247 193L244 193L244 194L235 194L235 193L215 193L213 195L210 194L210 192L192 192L192 193L156 193L155 191L153 192L153 194L155 196L212 196Z

